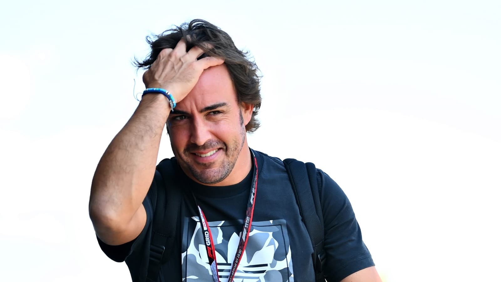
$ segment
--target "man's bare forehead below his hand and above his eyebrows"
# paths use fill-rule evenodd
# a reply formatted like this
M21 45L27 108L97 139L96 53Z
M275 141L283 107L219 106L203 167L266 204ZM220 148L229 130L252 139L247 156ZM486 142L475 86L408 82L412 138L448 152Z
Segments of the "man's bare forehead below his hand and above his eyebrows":
M204 70L193 89L178 105L180 110L193 106L199 110L221 102L236 103L233 81L224 64Z

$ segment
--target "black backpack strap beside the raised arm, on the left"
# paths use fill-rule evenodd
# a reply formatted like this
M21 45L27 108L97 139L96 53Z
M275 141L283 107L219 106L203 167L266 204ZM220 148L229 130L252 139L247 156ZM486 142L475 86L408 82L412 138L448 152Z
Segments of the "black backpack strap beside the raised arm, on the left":
M175 166L175 159L164 159L155 170L155 175L158 177L160 174L163 178L164 185L157 187L147 282L158 280L160 265L169 258L165 250L172 250L176 240L182 195L175 177Z

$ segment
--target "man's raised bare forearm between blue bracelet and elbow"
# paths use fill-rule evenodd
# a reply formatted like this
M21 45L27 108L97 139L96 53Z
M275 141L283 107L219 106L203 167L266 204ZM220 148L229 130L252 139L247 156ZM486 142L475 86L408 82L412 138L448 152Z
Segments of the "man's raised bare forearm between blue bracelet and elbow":
M143 98L96 168L89 201L93 221L128 222L148 192L170 106L161 94Z

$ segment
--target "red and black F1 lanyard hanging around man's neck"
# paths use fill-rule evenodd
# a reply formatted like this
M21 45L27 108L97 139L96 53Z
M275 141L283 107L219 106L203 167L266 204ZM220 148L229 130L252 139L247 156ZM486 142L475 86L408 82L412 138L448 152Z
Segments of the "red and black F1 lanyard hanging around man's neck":
M254 157L254 181L250 189L250 196L247 203L247 210L245 212L245 221L243 222L243 230L240 234L240 240L238 241L238 248L236 249L235 258L233 259L233 263L231 263L228 282L232 282L233 277L235 276L236 268L240 263L243 251L245 250L245 246L247 245L250 225L252 224L252 217L254 215L254 203L256 202L256 191L258 188L258 160L256 159L253 150L250 150L250 152L252 152ZM193 195L193 198L195 198L195 195ZM216 249L214 246L214 241L212 240L212 233L210 232L209 224L207 223L207 219L205 218L202 209L196 203L196 198L195 198L195 204L198 207L198 212L200 214L200 222L202 224L202 232L203 232L203 237L205 239L205 250L207 251L207 257L209 259L210 271L212 272L212 279L214 280L214 282L219 282L219 276L217 273Z

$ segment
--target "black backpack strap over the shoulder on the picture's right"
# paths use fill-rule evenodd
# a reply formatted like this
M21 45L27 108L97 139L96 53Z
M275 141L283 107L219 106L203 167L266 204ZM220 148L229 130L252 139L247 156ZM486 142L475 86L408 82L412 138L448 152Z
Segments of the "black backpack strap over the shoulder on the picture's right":
M317 168L313 163L304 163L296 159L285 159L284 165L289 174L301 218L312 242L315 280L325 281L320 258L320 252L324 248L324 216L320 204Z

